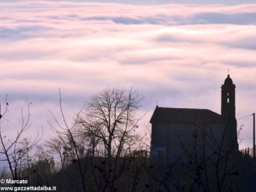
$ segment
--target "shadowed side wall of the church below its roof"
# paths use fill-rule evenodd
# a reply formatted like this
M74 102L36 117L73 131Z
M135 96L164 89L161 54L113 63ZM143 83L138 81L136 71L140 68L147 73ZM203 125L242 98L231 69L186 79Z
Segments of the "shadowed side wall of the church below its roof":
M233 135L233 134L232 134ZM225 124L154 123L152 125L152 161L188 162L195 155L216 153L224 136L223 148L232 143ZM230 139L229 139L230 137ZM161 156L161 157L159 157ZM162 160L161 160L162 159Z

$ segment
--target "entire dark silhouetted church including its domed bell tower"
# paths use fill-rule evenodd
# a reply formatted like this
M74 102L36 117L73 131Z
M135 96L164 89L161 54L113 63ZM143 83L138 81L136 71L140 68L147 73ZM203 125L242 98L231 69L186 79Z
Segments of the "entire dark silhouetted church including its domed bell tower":
M236 85L228 75L221 86L221 114L208 109L156 106L150 123L153 164L188 163L198 157L214 159L220 155L234 158L238 154Z

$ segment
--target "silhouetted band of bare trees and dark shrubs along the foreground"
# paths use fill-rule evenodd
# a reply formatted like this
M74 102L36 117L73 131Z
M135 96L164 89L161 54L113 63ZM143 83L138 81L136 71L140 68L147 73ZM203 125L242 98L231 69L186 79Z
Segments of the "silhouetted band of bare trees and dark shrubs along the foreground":
M86 107L67 122L60 96L60 115L52 114L49 126L53 137L39 144L42 136L26 139L30 112L22 112L20 129L13 139L0 132L0 179L27 180L28 183L2 183L1 186L47 186L57 191L255 191L256 160L251 149L229 159L219 154L212 163L202 153L188 163L152 163L151 133L139 131L141 98L133 89L104 89L90 97ZM6 100L0 123L8 112ZM57 116L58 115L58 116ZM61 117L61 118L57 118ZM146 130L141 129L141 130ZM224 163L223 163L223 162ZM229 172L223 165L232 161Z

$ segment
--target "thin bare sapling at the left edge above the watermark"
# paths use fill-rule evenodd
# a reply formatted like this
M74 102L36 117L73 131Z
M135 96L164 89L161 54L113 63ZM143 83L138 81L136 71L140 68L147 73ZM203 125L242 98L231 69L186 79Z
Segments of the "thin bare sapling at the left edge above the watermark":
M16 136L13 139L7 138L3 129L0 130L0 161L7 162L9 172L11 173L14 180L24 179L29 176L29 172L25 174L24 169L28 168L31 165L31 155L30 152L33 147L38 143L42 138L39 132L35 139L24 138L24 134L27 129L30 127L30 105L27 106L27 114L24 115L24 110L21 110L21 125ZM7 96L5 99L5 110L0 114L0 124L5 121L5 115L8 112L9 103L7 102ZM0 106L1 113L1 106Z

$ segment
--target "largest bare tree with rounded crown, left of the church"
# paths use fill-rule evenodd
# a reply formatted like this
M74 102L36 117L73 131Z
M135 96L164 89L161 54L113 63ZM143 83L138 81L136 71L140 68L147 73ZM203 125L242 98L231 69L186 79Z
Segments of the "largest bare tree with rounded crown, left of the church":
M94 146L104 145L108 158L120 156L126 144L133 142L137 128L135 112L141 98L136 91L113 88L104 89L92 96L85 110L79 114L79 132Z

